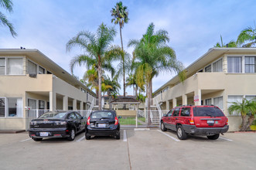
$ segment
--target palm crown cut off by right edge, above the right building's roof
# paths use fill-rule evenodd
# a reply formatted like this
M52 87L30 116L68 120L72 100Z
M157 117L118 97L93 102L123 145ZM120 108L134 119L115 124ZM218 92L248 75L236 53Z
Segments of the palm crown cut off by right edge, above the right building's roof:
M255 29L251 26L242 30L237 37L237 44L244 44L243 47L253 47L256 45L256 25L254 22Z

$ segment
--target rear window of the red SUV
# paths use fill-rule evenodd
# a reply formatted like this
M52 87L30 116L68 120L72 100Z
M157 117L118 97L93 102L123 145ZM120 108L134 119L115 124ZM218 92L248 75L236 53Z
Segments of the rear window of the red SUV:
M224 117L223 112L217 107L194 107L194 117Z

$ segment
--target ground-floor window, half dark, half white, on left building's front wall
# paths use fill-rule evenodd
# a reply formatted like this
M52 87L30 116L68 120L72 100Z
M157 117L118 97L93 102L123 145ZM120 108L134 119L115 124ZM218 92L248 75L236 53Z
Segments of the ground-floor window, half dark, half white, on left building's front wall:
M8 117L22 117L22 98L8 98Z

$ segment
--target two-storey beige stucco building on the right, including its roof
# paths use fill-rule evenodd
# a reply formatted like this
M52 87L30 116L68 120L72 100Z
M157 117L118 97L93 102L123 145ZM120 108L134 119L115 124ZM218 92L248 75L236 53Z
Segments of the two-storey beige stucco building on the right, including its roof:
M239 113L229 114L229 102L256 97L256 48L212 48L186 67L186 80L174 76L155 90L153 101L163 110L179 105L214 104L229 118L230 131L241 125Z

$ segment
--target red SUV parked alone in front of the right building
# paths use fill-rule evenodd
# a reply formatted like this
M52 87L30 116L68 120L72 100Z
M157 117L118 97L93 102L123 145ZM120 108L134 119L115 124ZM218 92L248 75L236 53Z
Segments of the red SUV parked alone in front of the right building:
M176 131L181 140L186 139L187 134L204 135L216 140L228 128L227 117L216 106L175 107L161 119L161 130Z

